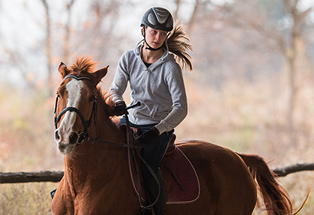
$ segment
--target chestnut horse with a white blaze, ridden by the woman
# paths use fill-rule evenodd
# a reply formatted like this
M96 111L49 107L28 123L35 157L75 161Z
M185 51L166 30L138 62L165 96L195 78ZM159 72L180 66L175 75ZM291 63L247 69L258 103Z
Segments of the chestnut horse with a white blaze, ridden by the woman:
M55 142L65 171L52 200L53 214L135 215L140 211L128 170L125 133L97 84L107 68L94 71L90 58L61 63L55 107ZM292 203L262 158L237 154L203 141L177 146L194 165L200 196L189 204L168 204L169 215L249 215L257 190L267 214L292 214Z

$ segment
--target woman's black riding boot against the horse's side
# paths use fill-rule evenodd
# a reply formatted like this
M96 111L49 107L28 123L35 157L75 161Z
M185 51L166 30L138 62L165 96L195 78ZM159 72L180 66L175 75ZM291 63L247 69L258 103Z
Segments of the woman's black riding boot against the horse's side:
M161 171L158 170L156 175L159 181L160 191L159 191L159 186L154 178L148 179L146 181L147 190L148 190L148 194L149 194L149 198L151 202L156 201L159 194L159 198L156 204L153 206L155 215L165 215L166 214L166 201L167 201L166 188L165 188L164 180L161 175Z

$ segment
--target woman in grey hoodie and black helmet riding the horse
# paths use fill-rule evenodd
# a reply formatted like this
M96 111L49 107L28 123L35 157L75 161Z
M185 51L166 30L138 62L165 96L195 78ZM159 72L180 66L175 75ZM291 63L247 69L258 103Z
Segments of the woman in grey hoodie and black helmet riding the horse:
M191 45L181 26L173 29L173 18L164 8L150 8L142 18L141 31L143 43L122 55L110 91L113 92L117 116L125 112L122 95L128 82L130 105L141 104L128 110L129 120L132 127L142 132L138 138L145 145L142 156L157 174L161 185L159 200L154 205L155 214L161 215L166 210L166 191L158 167L174 128L187 114L182 70L173 54L183 66L192 70L190 56L186 52L191 50ZM124 122L122 118L120 124ZM147 168L142 171L150 199L154 201L159 194L159 186Z

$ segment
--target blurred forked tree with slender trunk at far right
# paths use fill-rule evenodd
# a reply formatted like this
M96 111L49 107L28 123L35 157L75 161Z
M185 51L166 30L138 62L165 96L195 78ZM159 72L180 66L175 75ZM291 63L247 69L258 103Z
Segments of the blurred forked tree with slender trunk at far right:
M313 10L312 7L300 9L303 0L260 0L254 3L252 8L261 8L263 19L251 16L247 24L264 36L265 40L272 40L276 50L283 56L288 67L289 98L287 104L287 128L290 133L291 143L295 143L295 109L297 105L298 76L302 71L302 63L306 61L305 30L309 26L306 18ZM243 2L247 3L247 2ZM255 7L254 7L255 6ZM256 10L254 10L256 12ZM240 14L237 14L240 15ZM235 17L234 17L235 18ZM252 19L253 18L253 19ZM266 43L266 44L269 44Z

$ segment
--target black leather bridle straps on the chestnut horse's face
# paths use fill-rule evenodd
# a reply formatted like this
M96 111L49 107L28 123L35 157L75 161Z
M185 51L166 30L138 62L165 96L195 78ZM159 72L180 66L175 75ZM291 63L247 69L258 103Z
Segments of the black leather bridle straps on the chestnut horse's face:
M68 78L74 78L75 80L78 81L82 81L82 80L87 80L90 81L96 88L96 84L95 82L90 79L89 77L77 77L76 75L67 75L64 77L63 81L65 81ZM58 100L60 98L60 95L57 94L56 97L56 103L55 103L55 108L54 108L54 122L55 122L55 128L58 128L58 123L61 120L61 117L66 113L66 112L75 112L81 119L82 124L84 126L84 131L79 132L79 139L78 139L78 144L82 143L83 140L85 138L88 137L88 128L91 125L92 122L92 118L94 116L94 123L96 123L96 112L97 112L97 95L94 98L94 103L93 103L93 109L92 109L92 113L91 116L89 117L89 120L85 120L83 114L81 113L81 111L79 109L77 109L76 107L66 107L65 109L63 109L60 114L57 116L57 106L58 106Z

